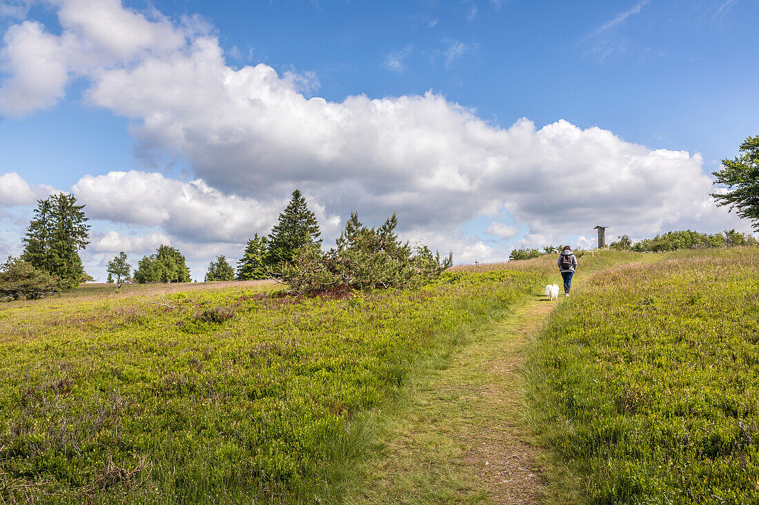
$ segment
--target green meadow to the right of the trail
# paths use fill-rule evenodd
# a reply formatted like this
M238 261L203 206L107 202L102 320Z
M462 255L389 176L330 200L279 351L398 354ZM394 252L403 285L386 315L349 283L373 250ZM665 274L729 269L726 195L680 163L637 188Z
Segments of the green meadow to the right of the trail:
M648 255L558 309L529 361L553 503L759 501L759 249Z

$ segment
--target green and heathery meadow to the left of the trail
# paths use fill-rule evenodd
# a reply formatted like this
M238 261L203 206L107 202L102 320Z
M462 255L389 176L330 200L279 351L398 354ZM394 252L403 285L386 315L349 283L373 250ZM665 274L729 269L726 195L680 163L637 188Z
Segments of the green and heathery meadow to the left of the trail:
M347 300L87 287L2 304L0 497L338 503L369 413L540 281L458 272Z

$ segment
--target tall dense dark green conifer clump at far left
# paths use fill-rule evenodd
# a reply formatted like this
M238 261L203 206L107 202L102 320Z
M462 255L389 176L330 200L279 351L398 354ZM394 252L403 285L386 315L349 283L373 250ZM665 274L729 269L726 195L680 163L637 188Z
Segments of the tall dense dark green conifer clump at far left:
M78 251L89 244L90 225L84 205L76 202L74 195L65 193L37 200L23 239L21 259L58 277L62 288L78 286L86 275Z

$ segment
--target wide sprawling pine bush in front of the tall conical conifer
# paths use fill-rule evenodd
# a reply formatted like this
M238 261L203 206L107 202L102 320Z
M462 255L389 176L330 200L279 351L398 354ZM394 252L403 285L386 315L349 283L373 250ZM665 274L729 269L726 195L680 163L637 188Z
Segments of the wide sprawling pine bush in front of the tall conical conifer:
M367 290L417 287L439 277L452 265L452 255L440 259L427 246L411 248L395 234L395 214L378 227L366 227L356 212L336 240L336 249L322 252L316 243L301 248L292 264L282 267L282 282L291 293L325 290Z

